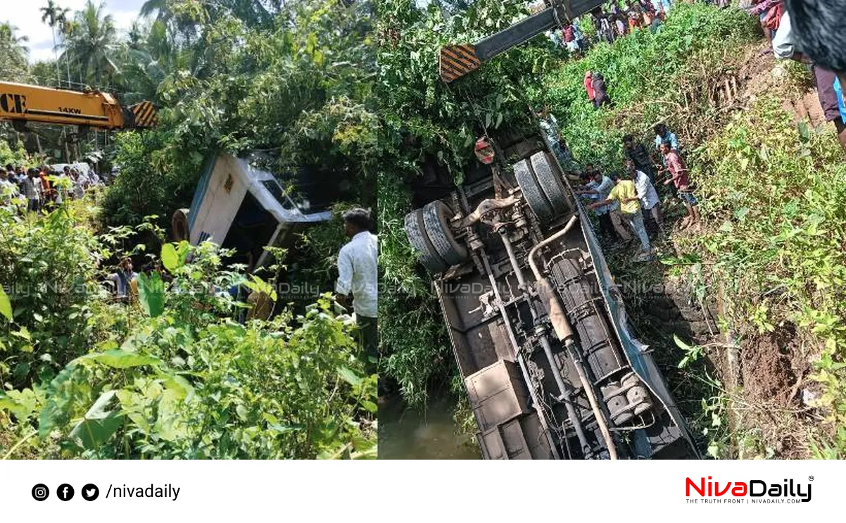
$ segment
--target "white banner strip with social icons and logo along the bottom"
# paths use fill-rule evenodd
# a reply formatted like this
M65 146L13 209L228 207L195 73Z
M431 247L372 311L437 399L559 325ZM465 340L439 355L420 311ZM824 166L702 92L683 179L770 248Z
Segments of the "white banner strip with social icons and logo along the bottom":
M836 515L844 480L836 461L8 461L0 513L145 523L795 521Z

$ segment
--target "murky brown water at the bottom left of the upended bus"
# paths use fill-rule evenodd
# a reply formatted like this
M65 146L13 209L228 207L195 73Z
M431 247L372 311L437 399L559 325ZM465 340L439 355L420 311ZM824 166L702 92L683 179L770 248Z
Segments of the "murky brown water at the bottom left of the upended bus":
M457 434L453 402L436 399L426 412L406 409L398 396L379 401L380 460L478 460L470 437Z

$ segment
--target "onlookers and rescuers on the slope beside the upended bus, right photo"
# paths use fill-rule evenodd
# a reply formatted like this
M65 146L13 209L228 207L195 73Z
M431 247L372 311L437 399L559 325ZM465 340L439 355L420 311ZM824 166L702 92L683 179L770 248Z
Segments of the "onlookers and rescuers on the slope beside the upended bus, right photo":
M792 5L786 5L786 1ZM719 8L727 8L729 4L728 0L714 0L713 3ZM632 0L627 9L621 9L615 3L607 12L592 14L596 33L602 41L613 42L615 38L639 28L650 27L656 30L671 5L670 0ZM800 34L793 30L790 11L803 6L804 0L742 0L740 3L740 8L760 19L761 28L777 58L797 60L812 68L825 117L835 125L838 139L846 150L846 109L840 84L846 80L843 71L846 63L838 62L841 57L846 57L846 52L827 53L826 46L815 45L812 38L802 33L804 26L799 29ZM826 20L816 18L821 30L834 29L834 25L830 28L825 25ZM803 17L802 25L805 25L805 21ZM584 48L584 37L580 36L578 30L568 31L568 27L565 27L562 34L563 41L568 43L571 50ZM576 43L571 46L571 41ZM815 61L812 56L818 59ZM843 61L846 62L846 58ZM612 104L602 74L596 71L585 72L584 87L593 107ZM667 129L666 124L655 125L651 147L640 143L634 135L625 135L624 168L619 173L602 173L592 164L586 164L584 169L578 168L558 129L558 121L548 110L539 110L536 116L552 152L573 182L574 192L585 200L585 206L596 215L599 233L605 239L615 245L626 245L636 238L640 249L635 258L650 258L654 248L647 229L653 231L653 238L654 234L665 232L658 190L665 185L667 195L678 200L685 208L686 215L679 227L687 228L699 223L699 201L694 194L695 186L690 181L678 137Z

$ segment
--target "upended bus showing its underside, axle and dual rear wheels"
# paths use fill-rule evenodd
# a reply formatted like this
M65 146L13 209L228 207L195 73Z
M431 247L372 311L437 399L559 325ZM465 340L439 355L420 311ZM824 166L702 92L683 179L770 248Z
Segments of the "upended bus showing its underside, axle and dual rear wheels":
M508 164L480 156L458 187L427 165L404 223L483 457L697 458L558 159L533 132L497 143Z

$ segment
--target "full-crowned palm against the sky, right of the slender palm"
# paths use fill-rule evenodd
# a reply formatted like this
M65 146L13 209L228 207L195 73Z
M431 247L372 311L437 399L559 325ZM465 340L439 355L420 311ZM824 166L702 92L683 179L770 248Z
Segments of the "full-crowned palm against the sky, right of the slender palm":
M79 65L82 81L102 85L119 74L112 55L118 45L117 31L111 14L105 14L105 4L95 5L88 0L81 11L74 14L74 24L63 42L65 58L73 58Z

